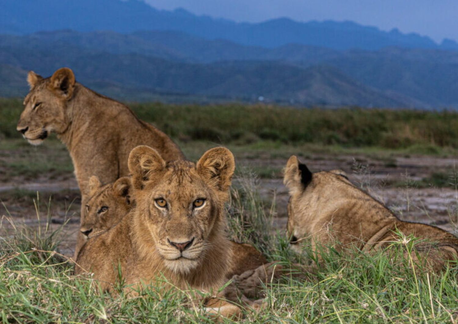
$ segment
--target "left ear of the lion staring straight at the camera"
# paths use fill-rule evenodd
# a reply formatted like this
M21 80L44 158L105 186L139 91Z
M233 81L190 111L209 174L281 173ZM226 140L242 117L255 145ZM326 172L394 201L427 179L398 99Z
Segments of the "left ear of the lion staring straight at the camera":
M131 150L128 165L132 175L132 186L135 189L143 189L146 181L151 181L165 169L165 161L158 151L146 145Z

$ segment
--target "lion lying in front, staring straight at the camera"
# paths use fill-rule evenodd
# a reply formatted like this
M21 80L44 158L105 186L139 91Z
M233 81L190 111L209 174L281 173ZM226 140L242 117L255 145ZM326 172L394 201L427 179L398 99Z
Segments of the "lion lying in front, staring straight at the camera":
M222 286L230 262L224 203L235 168L232 153L219 147L196 164L166 163L156 150L142 145L131 151L128 165L136 207L87 241L76 260L76 274L92 272L109 291L120 280L119 272L126 291L141 284L163 285L161 276L180 289ZM216 308L229 315L240 311L224 302Z

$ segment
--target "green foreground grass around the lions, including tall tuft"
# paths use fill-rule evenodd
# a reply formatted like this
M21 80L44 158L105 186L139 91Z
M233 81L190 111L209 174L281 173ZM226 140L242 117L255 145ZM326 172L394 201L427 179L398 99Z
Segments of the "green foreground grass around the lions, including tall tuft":
M256 245L270 260L307 263L284 232L273 232L272 213L257 193L256 176L245 172L234 181L228 205L228 235ZM269 207L269 206L267 206ZM4 323L213 323L202 308L189 308L188 291L150 287L127 298L98 291L87 277L73 275L73 265L58 252L65 227L50 231L42 216L38 229L16 226L0 236L0 318ZM5 220L4 220L5 222ZM65 225L63 225L65 226ZM415 240L393 242L391 254L358 251L322 253L325 260L308 280L285 277L268 286L266 308L245 311L242 323L424 323L457 320L457 271L443 275L414 272L404 249ZM305 249L307 251L307 249ZM230 322L226 320L226 322Z

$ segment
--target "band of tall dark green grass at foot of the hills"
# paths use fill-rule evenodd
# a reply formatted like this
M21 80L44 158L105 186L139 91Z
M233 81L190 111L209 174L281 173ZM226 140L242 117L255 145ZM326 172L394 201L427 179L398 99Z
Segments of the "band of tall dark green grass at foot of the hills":
M224 145L265 143L388 149L405 154L456 154L458 112L295 109L247 104L129 104L144 121L175 140ZM0 138L20 138L19 99L0 99ZM271 146L272 144L267 144Z

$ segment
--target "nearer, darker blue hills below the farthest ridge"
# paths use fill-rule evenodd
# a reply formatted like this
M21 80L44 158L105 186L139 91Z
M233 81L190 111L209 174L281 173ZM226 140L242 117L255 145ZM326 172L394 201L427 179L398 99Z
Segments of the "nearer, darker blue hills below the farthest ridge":
M25 71L70 66L78 80L122 99L158 93L297 104L458 107L458 52L338 51L207 40L183 32L0 35L0 95L25 93Z

